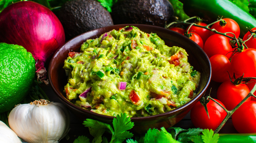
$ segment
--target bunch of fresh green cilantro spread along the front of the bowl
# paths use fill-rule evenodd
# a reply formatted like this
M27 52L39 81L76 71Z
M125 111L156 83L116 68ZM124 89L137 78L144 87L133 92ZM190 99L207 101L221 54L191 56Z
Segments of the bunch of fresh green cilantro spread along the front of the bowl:
M149 129L145 136L131 138L133 134L128 130L133 128L134 123L126 114L117 115L112 125L94 119L86 119L83 125L89 127L90 134L94 137L92 143L217 143L219 139L219 134L215 134L213 130L200 128L185 130L180 127L170 127L168 130L164 127L160 130ZM112 135L110 142L102 136L106 131ZM90 141L88 137L82 135L78 136L74 143L90 143Z

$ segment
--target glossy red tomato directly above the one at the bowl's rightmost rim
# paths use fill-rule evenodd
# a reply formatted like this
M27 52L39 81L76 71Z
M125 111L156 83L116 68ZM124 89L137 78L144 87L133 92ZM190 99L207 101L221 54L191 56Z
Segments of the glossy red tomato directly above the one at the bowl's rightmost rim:
M232 47L229 44L227 37L220 34L211 35L204 43L204 52L209 56L216 54L225 55L230 58L232 55Z

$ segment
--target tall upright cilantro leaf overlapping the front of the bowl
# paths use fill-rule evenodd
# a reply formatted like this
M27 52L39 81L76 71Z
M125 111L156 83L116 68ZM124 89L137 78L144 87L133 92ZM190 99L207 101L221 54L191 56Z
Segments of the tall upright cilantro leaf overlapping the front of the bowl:
M133 136L127 130L130 130L134 126L131 122L130 117L126 117L126 114L117 115L117 118L113 119L114 132L112 132L111 143L123 142L126 138L131 138Z

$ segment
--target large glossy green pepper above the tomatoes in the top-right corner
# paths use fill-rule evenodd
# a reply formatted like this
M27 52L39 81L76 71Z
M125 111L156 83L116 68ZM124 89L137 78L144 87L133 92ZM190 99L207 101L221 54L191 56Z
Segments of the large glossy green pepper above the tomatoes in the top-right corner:
M199 16L208 22L214 22L218 17L235 20L240 26L240 37L248 32L246 27L256 27L256 19L240 6L229 0L180 0L184 12L188 16Z

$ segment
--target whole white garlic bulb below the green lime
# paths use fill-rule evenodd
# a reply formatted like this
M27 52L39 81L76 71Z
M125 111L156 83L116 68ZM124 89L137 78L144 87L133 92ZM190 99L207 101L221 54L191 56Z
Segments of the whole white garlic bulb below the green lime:
M61 103L36 100L9 114L10 128L28 143L57 143L69 131L69 111Z

